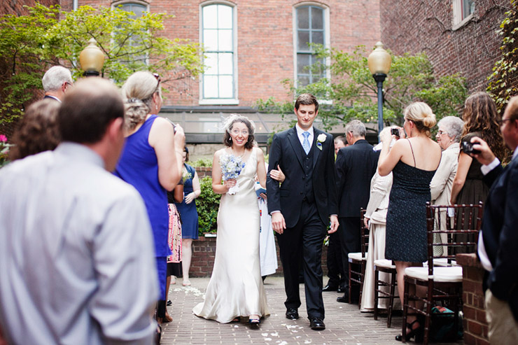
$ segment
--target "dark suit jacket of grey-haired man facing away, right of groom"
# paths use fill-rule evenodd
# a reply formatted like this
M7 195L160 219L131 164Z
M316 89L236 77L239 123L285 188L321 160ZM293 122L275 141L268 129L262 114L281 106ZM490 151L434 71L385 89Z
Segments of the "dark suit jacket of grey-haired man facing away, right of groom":
M372 150L365 139L338 151L335 167L339 217L359 217L360 208L367 208L370 180L376 172L378 157L379 151Z

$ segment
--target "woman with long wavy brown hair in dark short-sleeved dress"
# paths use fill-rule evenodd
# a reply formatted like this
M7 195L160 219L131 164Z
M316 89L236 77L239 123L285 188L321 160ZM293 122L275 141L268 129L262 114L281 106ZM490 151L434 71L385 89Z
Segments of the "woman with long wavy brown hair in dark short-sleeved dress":
M478 136L501 161L505 156L502 134L495 101L486 92L475 92L465 100L462 118L464 130L461 138L461 153L458 155L457 174L451 188L451 204L478 204L485 202L489 188L482 182L480 163L471 153L471 138Z

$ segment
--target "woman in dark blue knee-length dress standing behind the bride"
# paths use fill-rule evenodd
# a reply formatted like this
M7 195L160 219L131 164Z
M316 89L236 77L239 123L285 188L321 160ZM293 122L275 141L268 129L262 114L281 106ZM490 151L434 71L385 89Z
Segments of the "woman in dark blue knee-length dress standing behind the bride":
M176 203L176 209L182 220L182 273L183 286L190 286L189 269L190 260L193 258L193 239L198 239L198 212L195 199L200 196L200 179L196 169L189 162L189 150L183 148L183 200Z

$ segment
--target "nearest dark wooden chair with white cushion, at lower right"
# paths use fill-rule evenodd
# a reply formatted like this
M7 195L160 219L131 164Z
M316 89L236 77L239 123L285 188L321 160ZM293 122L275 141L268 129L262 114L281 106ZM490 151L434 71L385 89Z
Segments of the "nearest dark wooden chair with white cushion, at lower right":
M451 214L454 213L454 214ZM434 220L446 217L445 229L434 229ZM438 222L441 224L441 222ZM408 267L405 269L405 295L403 299L403 323L402 342L406 341L406 325L408 309L412 310L411 315L424 316L424 344L427 345L430 338L430 319L433 303L441 301L442 304L449 304L449 309L454 311L454 330L458 329L458 311L462 307L462 267L454 264L455 247L463 246L466 253L472 253L477 246L476 241L456 241L457 234L476 234L482 225L482 202L478 205L453 205L453 206L431 206L426 204L426 227L428 237L428 267ZM433 234L447 234L447 241L438 239L434 242ZM469 237L469 236L468 236ZM434 256L433 247L447 247L448 253ZM434 266L434 259L443 258L446 260L444 267ZM423 286L426 288L426 295L420 297L409 293L409 286ZM409 305L409 301L421 301L424 304L423 310ZM422 325L421 325L422 326ZM456 339L455 339L456 340Z

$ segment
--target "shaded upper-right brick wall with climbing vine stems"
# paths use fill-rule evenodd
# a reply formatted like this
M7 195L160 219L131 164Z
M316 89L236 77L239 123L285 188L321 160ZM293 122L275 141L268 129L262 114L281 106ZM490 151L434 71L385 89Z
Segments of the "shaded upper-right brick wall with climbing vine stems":
M496 30L509 0L477 0L472 20L454 30L452 1L381 1L381 38L395 54L424 51L435 73L459 72L470 92L485 90L500 55Z

